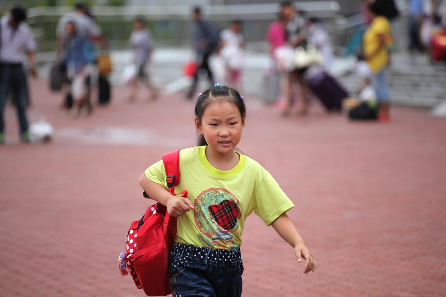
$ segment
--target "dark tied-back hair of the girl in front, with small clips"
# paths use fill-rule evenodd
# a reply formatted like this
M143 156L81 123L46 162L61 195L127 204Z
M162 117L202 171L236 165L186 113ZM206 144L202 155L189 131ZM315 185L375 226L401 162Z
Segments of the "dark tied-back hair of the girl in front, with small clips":
M242 120L244 119L246 115L245 101L241 98L240 94L234 88L230 88L228 86L221 86L221 87L210 87L206 89L198 97L197 103L195 104L195 117L197 118L198 122L201 123L203 114L209 105L215 102L224 102L224 101L232 103L235 106L237 106L238 110L240 111ZM207 145L208 143L206 142L204 135L200 135L198 137L197 146L207 146Z

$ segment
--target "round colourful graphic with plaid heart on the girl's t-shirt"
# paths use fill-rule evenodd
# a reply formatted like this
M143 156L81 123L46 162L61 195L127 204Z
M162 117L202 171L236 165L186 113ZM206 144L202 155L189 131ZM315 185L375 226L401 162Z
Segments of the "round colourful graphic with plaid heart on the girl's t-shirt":
M232 249L238 247L232 234L238 229L242 216L239 201L223 188L211 188L200 193L195 199L195 224L201 234L198 238L204 247Z

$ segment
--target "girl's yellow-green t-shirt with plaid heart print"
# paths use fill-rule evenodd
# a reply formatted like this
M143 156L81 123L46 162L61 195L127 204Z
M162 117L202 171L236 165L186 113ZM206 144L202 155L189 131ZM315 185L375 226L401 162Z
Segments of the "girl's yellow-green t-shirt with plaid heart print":
M176 242L212 249L240 247L245 219L253 211L270 225L294 204L259 163L241 155L229 171L214 168L206 146L180 151L180 183L195 209L178 218ZM145 171L147 178L166 187L163 161Z

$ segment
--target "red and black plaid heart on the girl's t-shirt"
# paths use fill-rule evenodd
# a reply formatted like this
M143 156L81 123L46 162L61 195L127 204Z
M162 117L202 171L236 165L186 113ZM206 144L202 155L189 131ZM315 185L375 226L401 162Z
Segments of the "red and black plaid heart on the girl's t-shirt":
M208 210L215 222L224 230L231 231L237 226L240 209L234 201L224 200L217 205L209 206Z

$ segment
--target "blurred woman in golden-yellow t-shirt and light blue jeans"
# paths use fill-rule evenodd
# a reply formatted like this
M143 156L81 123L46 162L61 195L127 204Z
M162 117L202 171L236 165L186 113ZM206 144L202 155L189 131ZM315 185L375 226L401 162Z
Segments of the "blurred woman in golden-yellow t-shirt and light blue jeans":
M389 64L390 23L383 16L383 9L377 2L370 4L368 8L372 21L363 37L364 60L374 74L372 82L379 103L378 119L389 121L390 95L385 69Z

